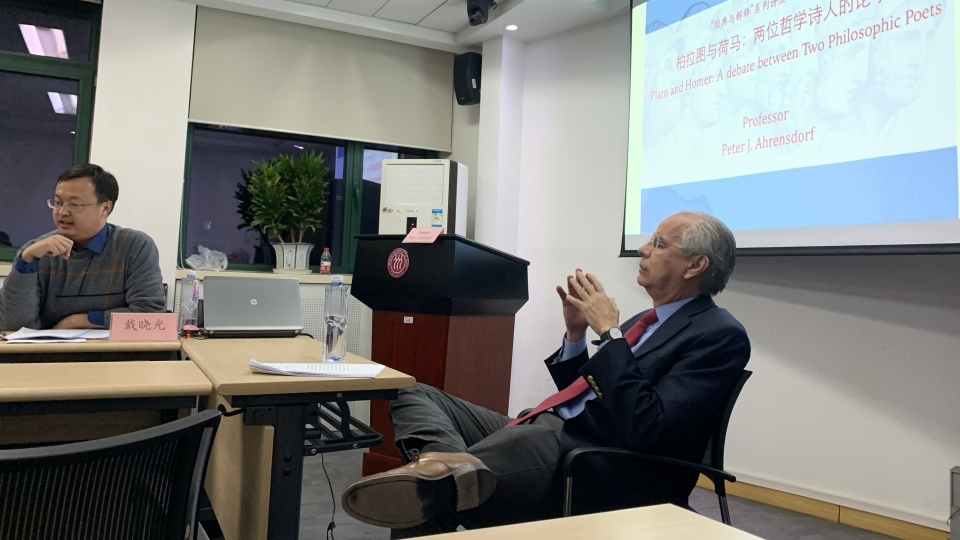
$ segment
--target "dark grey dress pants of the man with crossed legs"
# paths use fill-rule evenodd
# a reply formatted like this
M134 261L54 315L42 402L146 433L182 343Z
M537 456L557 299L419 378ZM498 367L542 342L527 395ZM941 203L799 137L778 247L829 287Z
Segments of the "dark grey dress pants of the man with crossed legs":
M390 416L404 458L414 449L468 452L496 475L497 487L487 502L452 515L458 524L476 529L562 515L557 468L563 420L556 415L547 412L506 427L512 418L418 383L400 390Z

